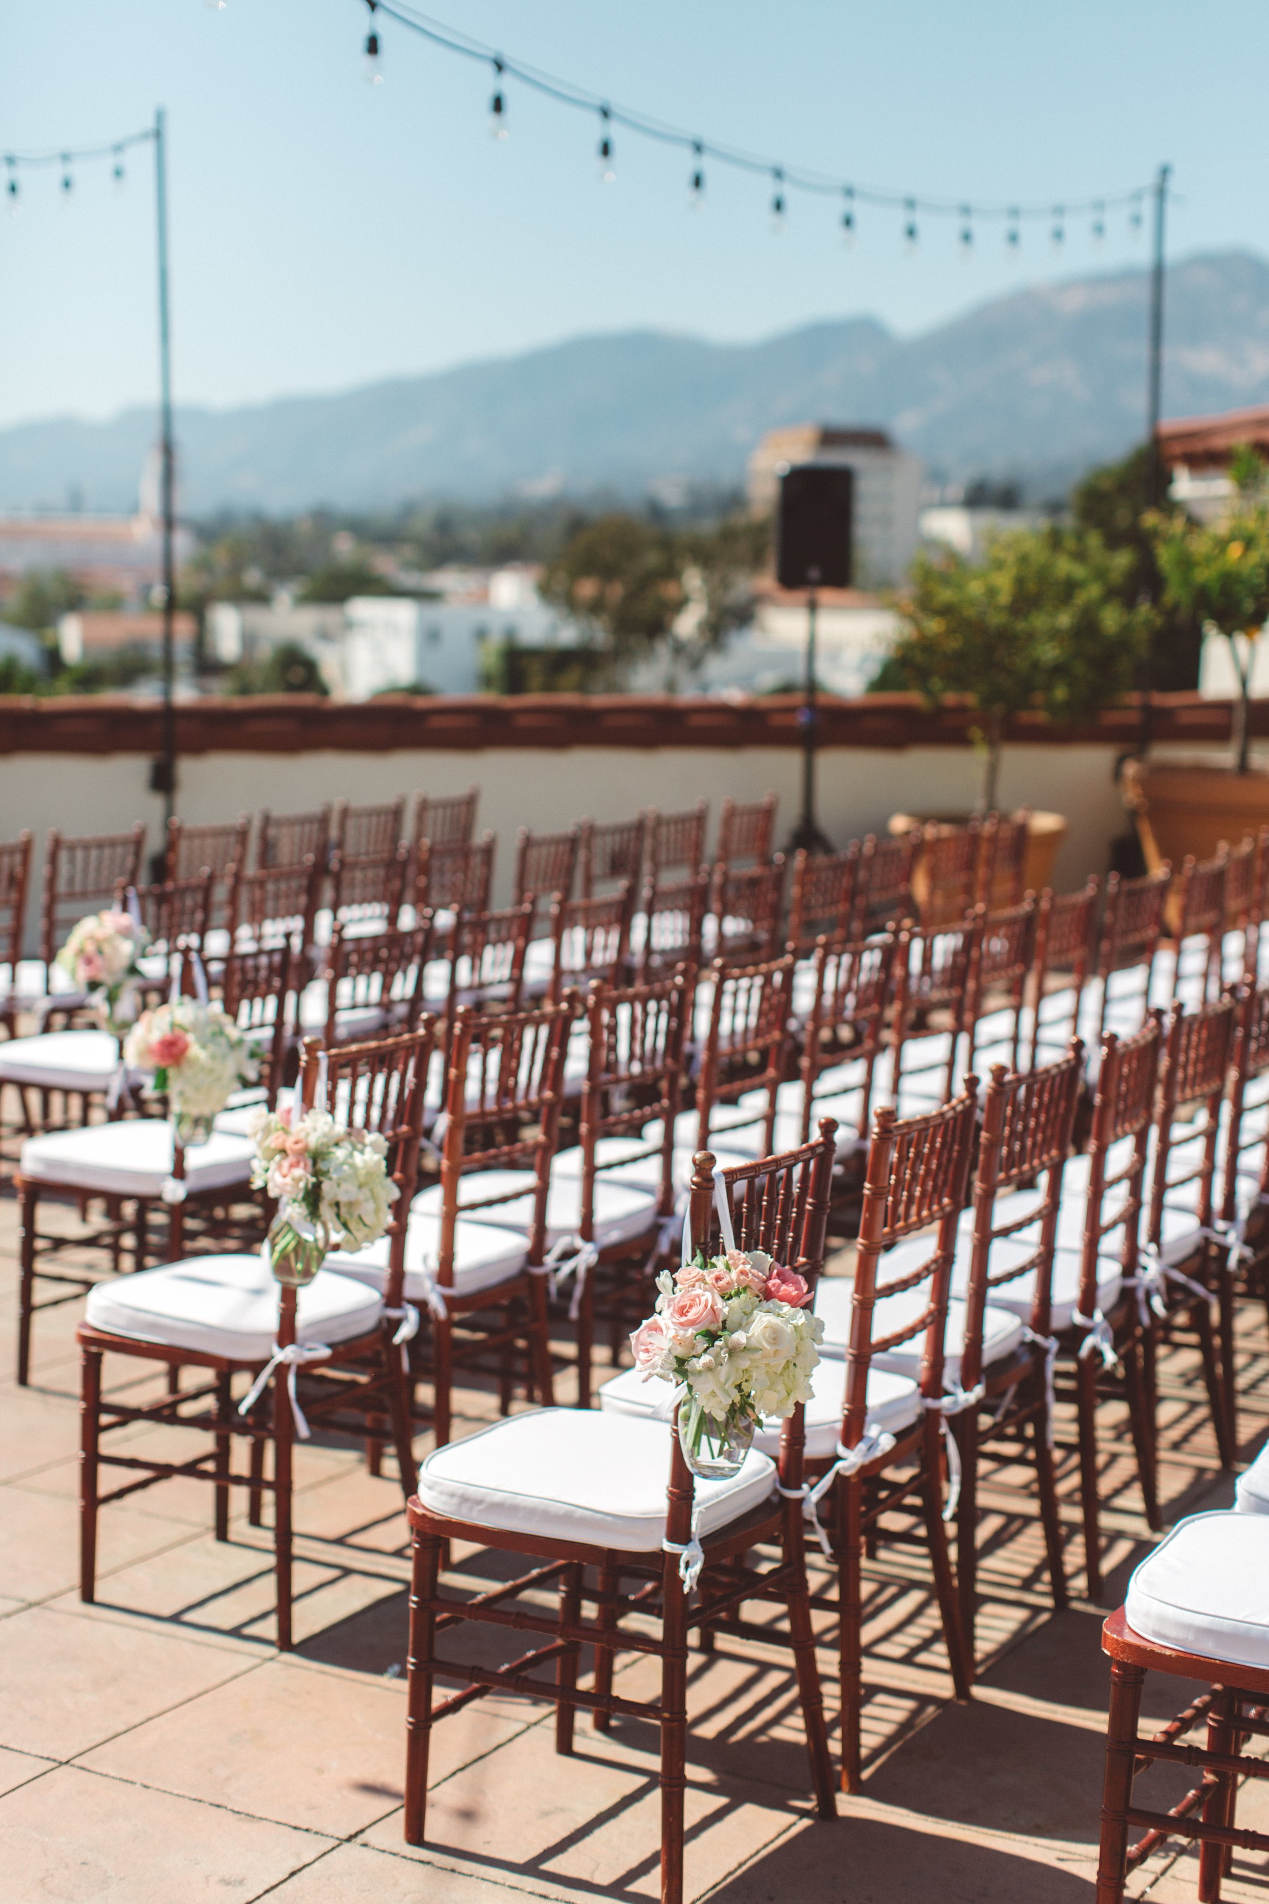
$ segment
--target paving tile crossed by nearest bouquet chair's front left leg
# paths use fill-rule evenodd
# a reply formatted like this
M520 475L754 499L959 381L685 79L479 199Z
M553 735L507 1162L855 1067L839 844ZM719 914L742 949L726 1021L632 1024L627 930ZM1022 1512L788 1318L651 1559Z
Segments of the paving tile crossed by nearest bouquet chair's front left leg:
M451 1721L441 1773L483 1757L523 1725L481 1712L481 1704ZM401 1681L274 1658L236 1683L137 1725L86 1763L259 1818L346 1837L400 1803L405 1689Z

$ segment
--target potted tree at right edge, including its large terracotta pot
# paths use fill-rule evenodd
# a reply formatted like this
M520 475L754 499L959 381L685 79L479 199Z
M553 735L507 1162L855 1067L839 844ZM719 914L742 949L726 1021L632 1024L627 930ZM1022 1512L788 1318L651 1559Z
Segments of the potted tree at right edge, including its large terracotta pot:
M1252 666L1269 621L1269 510L1256 501L1263 465L1244 451L1233 476L1239 497L1223 522L1153 522L1166 598L1193 613L1204 634L1229 642L1239 699L1231 764L1138 760L1124 767L1124 800L1151 866L1162 859L1180 866L1187 853L1208 859L1221 840L1235 842L1269 821L1269 773L1250 758Z

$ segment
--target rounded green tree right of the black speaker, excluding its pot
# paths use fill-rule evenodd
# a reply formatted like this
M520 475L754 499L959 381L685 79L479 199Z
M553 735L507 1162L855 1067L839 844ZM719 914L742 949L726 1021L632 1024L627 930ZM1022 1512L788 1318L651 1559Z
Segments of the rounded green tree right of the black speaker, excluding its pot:
M1132 687L1149 609L1124 602L1130 562L1100 535L1058 526L999 535L982 562L917 556L883 674L934 706L957 695L980 712L980 813L995 805L1012 714L1075 722Z

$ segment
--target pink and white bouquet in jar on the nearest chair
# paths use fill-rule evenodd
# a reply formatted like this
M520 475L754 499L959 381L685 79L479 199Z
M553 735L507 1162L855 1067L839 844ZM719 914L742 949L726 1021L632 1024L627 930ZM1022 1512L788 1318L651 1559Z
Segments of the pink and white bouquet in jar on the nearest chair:
M763 1418L810 1399L824 1323L795 1270L761 1251L696 1253L656 1278L656 1312L630 1337L643 1380L681 1384L679 1441L693 1474L736 1474Z

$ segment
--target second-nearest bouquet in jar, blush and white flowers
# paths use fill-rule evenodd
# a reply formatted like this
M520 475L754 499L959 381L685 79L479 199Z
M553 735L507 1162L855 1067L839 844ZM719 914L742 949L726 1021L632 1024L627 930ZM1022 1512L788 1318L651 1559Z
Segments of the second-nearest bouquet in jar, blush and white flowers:
M312 1281L335 1243L365 1249L379 1241L401 1192L377 1131L350 1131L325 1110L295 1118L283 1104L259 1110L251 1137L251 1182L278 1200L264 1253L280 1283Z

